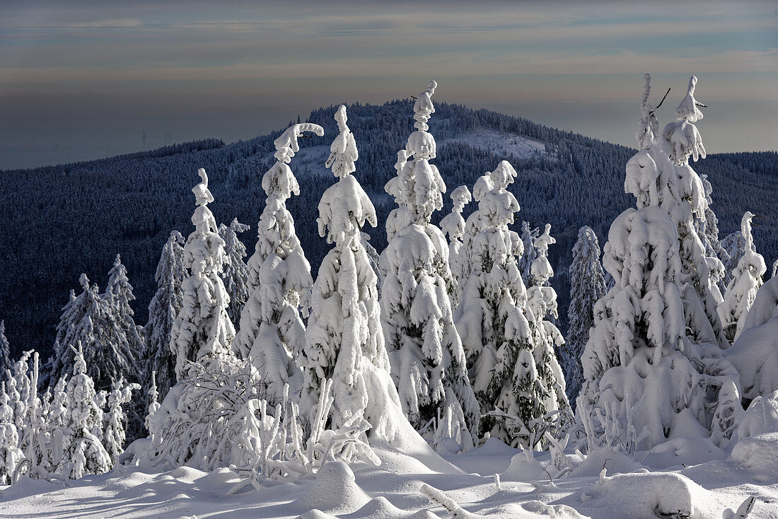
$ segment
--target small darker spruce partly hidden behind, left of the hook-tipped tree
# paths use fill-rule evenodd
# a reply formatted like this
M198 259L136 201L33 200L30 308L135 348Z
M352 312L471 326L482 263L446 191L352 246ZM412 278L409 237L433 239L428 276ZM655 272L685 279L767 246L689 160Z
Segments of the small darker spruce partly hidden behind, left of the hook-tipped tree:
M227 307L227 315L230 321L237 324L240 320L240 310L243 310L248 300L248 268L244 263L246 246L238 238L238 233L244 233L251 229L245 223L233 218L230 226L221 224L219 236L224 240L224 253L228 261L225 262L222 271L222 280L227 294L230 296L230 306Z

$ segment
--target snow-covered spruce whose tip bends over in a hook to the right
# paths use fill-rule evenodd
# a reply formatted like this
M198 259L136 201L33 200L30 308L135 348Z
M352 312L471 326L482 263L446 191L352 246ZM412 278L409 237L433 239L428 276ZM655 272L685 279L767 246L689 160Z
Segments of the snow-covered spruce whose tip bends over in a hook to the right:
M280 402L284 384L295 394L302 384L292 355L305 345L305 325L300 316L310 307L310 264L286 210L286 199L300 194L300 185L289 168L300 150L303 132L324 135L318 124L294 124L275 139L276 163L262 177L268 195L257 223L257 247L248 261L250 296L240 314L240 332L233 349L251 359L267 386L268 400Z

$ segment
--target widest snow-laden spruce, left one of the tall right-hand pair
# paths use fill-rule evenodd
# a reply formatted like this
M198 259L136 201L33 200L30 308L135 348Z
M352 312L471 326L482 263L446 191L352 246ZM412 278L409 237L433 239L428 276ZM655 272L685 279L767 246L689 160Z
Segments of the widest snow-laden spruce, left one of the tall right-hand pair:
M592 422L603 416L594 412L600 409L619 426L622 444L641 448L678 435L707 437L706 408L718 403L713 389L734 372L720 359L714 323L700 296L710 296L710 285L691 202L703 214L702 184L691 168L674 167L656 146L650 76L645 79L636 132L640 152L627 163L625 181L637 209L622 212L608 233L603 266L615 285L594 307L576 409ZM678 128L686 132L689 123L681 122ZM678 139L667 128L664 133ZM689 149L678 145L675 156ZM696 282L700 286L692 286ZM701 386L703 378L710 391ZM712 405L706 406L706 398Z

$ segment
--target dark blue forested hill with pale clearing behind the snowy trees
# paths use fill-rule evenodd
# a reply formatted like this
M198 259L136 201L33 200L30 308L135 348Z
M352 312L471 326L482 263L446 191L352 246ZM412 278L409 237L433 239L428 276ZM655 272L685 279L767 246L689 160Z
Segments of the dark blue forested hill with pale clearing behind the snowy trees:
M386 244L383 221L394 209L384 184L394 176L397 151L413 130L412 106L412 100L395 100L349 107L349 127L359 147L356 177L379 213L379 228L369 230L379 251ZM329 107L310 114L308 121L324 126L325 136L301 139L303 149L290 164L301 193L287 206L314 271L328 251L318 237L316 217L321 193L335 182L324 169L331 139L338 135L334 113L335 107ZM706 117L699 126L703 140L706 124L717 123ZM550 249L550 259L562 317L569 291L566 265L578 228L592 226L602 240L615 216L633 205L623 182L634 150L520 117L447 103L436 105L430 132L438 143L433 163L449 191L460 184L472 187L499 160L509 160L519 172L511 186L521 205L516 229L521 219L534 227L552 224L557 243ZM631 134L633 128L624 132ZM0 172L0 320L5 320L13 352L33 347L49 352L68 291L79 290L82 272L102 289L117 253L135 286L135 321L145 324L161 248L170 230L184 236L192 230L191 188L199 181L199 167L208 171L216 198L210 207L219 223L229 224L237 217L251 225L241 236L251 254L265 203L261 177L274 161L272 141L278 135L230 145L219 140L191 142L86 163ZM774 199L778 154L712 155L693 167L708 174L713 184L720 237L738 228L745 210L765 217L754 236L770 265L778 255ZM450 211L450 199L446 202L436 220ZM465 208L465 214L473 209L475 203Z

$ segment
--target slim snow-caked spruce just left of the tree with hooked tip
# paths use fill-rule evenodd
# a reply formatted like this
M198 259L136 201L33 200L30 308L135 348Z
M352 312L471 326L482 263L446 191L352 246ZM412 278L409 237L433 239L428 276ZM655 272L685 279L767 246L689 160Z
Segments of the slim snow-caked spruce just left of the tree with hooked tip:
M187 364L196 361L205 369L220 369L219 363L232 356L230 342L235 328L227 317L230 296L219 274L226 261L224 240L216 232L216 219L208 209L213 195L208 189L208 175L198 170L202 179L192 188L198 205L191 222L195 230L184 245L184 266L190 275L181 284L184 293L181 310L170 331L170 350L176 356L176 377L186 376Z

